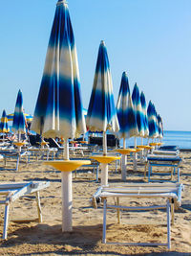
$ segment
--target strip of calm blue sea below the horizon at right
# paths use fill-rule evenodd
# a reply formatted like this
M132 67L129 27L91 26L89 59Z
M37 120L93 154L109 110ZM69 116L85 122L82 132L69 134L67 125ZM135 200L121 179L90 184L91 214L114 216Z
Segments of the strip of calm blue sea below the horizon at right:
M143 144L147 144L148 139L143 139ZM149 139L152 142L152 139ZM163 138L161 142L164 145L177 146L180 150L191 150L191 131L181 131L181 130L164 130ZM126 139L126 146L133 146L135 143L135 138ZM119 142L120 146L123 145L123 140ZM141 144L141 139L137 138L137 145Z

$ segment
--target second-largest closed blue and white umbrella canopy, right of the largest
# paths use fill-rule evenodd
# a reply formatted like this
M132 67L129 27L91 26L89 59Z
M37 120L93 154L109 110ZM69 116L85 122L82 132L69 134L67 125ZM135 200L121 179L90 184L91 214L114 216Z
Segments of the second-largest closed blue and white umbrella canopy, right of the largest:
M118 131L112 76L105 43L101 41L96 61L96 74L86 117L91 131Z

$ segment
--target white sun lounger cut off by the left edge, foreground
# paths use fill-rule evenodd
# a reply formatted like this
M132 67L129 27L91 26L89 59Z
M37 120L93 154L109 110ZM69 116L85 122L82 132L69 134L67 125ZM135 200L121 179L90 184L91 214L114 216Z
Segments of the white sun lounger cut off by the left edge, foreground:
M0 183L0 204L5 204L4 214L4 229L3 239L7 239L8 236L8 223L9 223L9 209L13 201L18 198L25 197L32 193L35 193L38 221L42 222L42 212L40 206L39 191L49 187L50 182L45 181L32 181L22 183Z

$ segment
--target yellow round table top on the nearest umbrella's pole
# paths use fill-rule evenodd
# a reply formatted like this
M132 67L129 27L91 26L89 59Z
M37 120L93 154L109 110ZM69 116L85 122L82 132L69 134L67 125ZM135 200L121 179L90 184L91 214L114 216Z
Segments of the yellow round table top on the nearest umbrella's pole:
M89 165L89 160L58 160L58 161L45 161L44 165L51 165L61 172L72 172L82 165Z

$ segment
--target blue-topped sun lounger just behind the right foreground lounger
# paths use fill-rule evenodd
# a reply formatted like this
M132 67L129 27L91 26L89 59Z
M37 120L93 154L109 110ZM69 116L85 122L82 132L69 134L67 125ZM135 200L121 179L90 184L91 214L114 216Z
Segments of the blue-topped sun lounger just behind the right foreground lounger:
M148 154L147 156L147 162L148 165L148 182L150 181L167 181L166 179L151 179L151 175L171 175L171 179L169 181L172 182L180 182L180 163L181 158L178 155L156 155L156 154ZM167 173L163 173L161 171L159 172L153 172L153 167L158 166L162 169L164 168ZM170 168L170 172L169 169ZM172 180L173 176L177 174L177 179L175 181ZM146 176L146 168L144 176Z

